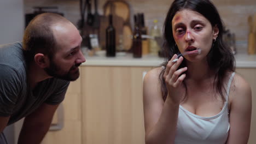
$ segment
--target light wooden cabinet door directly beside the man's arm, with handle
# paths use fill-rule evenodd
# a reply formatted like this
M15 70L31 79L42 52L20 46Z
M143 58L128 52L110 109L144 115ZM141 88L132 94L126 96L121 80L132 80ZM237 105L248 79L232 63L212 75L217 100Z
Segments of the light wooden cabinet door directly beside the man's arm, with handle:
M61 128L50 128L42 144L81 144L82 120L81 120L81 81L80 78L71 82L62 107L55 112L52 127L59 125ZM59 115L58 115L59 114ZM63 123L63 124L61 124Z

